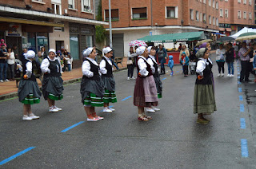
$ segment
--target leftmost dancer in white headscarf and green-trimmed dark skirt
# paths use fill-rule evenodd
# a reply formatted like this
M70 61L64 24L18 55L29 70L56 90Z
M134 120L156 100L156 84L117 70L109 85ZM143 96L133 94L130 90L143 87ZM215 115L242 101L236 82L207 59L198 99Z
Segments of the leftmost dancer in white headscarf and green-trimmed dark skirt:
M32 61L34 56L34 51L29 50L24 54L25 59L22 62L24 76L18 85L18 100L24 104L22 120L39 119L39 116L35 116L31 110L31 104L40 103L40 96L42 95L33 73Z

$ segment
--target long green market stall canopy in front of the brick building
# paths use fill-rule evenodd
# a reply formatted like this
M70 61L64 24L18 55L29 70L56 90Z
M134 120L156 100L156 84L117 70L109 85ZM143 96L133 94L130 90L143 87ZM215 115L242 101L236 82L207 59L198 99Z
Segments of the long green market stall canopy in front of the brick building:
M156 43L166 43L166 42L175 42L175 41L195 41L206 39L203 32L187 32L187 33L169 33L169 34L160 34L152 35L139 38L139 40L145 42L156 42Z

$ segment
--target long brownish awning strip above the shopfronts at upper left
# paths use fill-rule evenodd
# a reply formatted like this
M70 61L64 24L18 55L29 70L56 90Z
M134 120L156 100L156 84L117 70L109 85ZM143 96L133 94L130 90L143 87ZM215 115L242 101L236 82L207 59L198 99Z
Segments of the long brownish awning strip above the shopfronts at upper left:
M64 24L60 24L60 23L38 22L38 21L26 20L26 19L20 19L20 18L0 17L0 22L22 23L22 24L30 24L30 25L36 25L36 26L64 27Z

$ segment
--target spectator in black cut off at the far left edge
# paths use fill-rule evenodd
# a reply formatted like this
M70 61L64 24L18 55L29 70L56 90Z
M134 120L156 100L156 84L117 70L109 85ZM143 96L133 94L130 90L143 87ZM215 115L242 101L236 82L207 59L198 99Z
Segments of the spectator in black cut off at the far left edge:
M2 44L0 50L0 82L8 81L7 77L7 50L6 45Z

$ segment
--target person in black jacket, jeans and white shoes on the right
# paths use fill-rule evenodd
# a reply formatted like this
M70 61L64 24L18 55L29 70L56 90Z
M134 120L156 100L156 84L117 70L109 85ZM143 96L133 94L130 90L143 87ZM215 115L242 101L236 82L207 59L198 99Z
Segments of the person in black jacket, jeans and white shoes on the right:
M229 72L227 77L234 77L234 48L231 43L227 44L226 63Z

